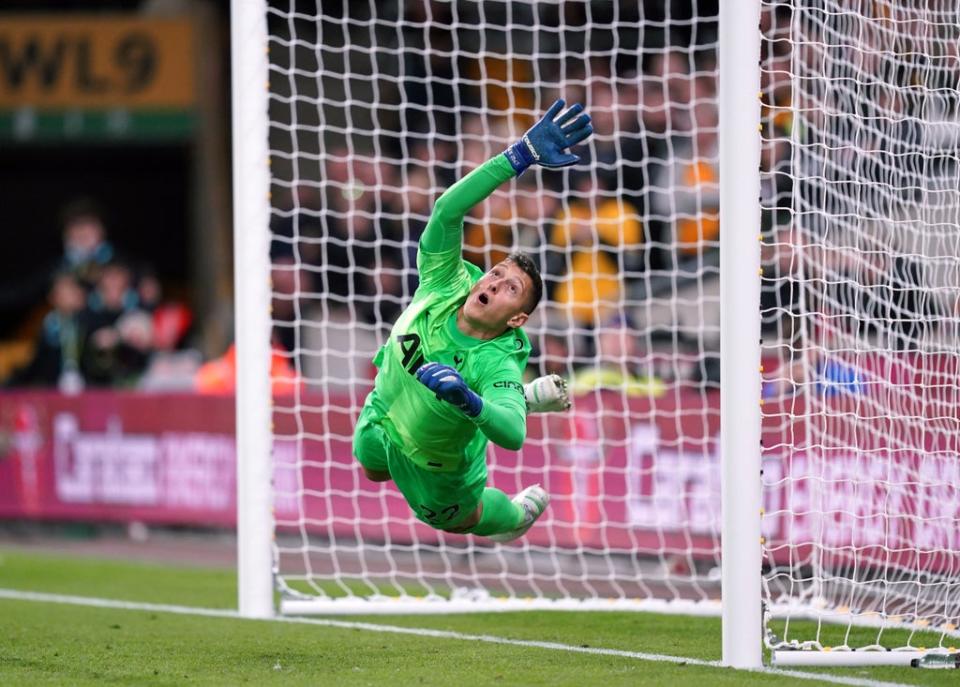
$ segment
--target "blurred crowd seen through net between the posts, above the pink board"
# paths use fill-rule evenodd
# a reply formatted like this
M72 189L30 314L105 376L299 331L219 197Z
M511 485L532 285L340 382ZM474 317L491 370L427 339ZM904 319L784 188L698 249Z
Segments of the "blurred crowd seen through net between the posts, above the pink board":
M487 268L520 247L538 260L530 375L639 395L715 385L716 3L370 12L271 17L274 284L289 285L274 318L306 377L347 388L369 375L416 288L433 200L563 98L593 117L581 163L495 192L467 218L465 258ZM688 293L704 277L706 293Z

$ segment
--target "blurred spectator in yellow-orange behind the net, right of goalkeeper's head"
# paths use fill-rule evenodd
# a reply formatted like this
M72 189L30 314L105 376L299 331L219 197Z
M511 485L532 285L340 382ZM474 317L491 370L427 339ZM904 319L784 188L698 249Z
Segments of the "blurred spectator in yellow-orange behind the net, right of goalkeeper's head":
M546 272L557 275L551 298L592 327L617 308L622 275L641 258L643 226L633 204L599 193L592 175L574 183L576 197L550 234Z

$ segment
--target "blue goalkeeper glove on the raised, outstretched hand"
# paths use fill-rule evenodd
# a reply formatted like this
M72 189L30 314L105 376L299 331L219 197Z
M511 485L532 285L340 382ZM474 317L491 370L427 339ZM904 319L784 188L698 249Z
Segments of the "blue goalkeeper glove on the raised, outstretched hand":
M556 169L580 162L578 156L564 150L593 133L590 115L580 114L583 112L580 103L560 114L563 104L563 100L556 101L539 122L503 152L517 176L533 164Z

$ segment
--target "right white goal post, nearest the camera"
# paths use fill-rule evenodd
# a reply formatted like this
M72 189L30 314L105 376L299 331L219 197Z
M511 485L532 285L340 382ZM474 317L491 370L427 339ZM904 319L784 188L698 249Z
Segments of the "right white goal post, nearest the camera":
M760 667L760 2L720 3L723 664Z

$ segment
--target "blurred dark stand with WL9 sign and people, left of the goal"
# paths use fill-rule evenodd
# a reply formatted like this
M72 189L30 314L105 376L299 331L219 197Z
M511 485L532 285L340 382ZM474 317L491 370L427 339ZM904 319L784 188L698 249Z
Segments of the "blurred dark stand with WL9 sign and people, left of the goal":
M229 3L0 7L0 384L186 390L232 321Z

